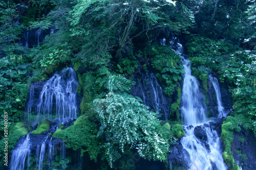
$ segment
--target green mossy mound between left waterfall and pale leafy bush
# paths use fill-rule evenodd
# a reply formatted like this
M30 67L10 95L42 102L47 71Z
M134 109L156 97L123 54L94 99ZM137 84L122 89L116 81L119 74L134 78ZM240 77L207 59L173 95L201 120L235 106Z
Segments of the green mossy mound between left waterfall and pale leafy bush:
M74 125L65 130L59 128L52 136L63 139L66 142L66 147L72 148L74 151L82 148L81 154L88 152L91 160L97 161L97 155L100 152L97 132L97 126L91 123L87 116L80 116Z

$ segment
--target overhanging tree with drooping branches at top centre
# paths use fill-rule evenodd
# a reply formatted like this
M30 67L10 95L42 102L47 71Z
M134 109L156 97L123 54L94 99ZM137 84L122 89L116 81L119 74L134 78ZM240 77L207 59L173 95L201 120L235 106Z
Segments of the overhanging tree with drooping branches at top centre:
M110 65L111 55L120 57L121 53L137 43L137 39L146 42L148 38L154 37L153 29L164 27L185 32L194 20L189 11L182 3L176 7L173 1L136 0L131 3L82 0L74 2L72 10L68 12L68 20L71 23L71 35L83 38L78 56L85 64L95 68L97 65ZM117 69L131 74L136 63L124 61L121 61L124 66L119 64L120 68Z

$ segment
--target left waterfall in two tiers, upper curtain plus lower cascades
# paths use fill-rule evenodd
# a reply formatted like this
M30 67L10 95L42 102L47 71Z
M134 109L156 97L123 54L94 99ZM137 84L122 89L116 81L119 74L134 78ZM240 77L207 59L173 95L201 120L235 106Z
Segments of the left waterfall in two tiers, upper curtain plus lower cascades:
M59 74L55 73L45 82L32 83L26 105L28 115L25 118L34 125L45 119L52 120L49 130L51 133L60 123L65 124L67 120L77 118L77 85L75 71L69 67ZM54 161L62 160L63 163L66 160L65 143L61 139L49 137L49 133L31 134L31 139L28 135L25 141L19 140L18 143L21 144L12 151L11 169L13 170L25 168L50 170L55 166ZM29 162L31 155L35 156L35 161L31 159ZM67 166L66 163L62 165L63 168Z

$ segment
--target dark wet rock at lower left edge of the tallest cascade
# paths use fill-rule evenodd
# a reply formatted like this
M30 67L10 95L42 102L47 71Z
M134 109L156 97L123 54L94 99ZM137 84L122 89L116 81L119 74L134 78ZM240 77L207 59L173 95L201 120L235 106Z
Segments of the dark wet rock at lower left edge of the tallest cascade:
M167 160L175 167L174 169L189 169L189 154L183 149L182 144L178 143L177 145L172 145L170 150L172 153L167 154Z

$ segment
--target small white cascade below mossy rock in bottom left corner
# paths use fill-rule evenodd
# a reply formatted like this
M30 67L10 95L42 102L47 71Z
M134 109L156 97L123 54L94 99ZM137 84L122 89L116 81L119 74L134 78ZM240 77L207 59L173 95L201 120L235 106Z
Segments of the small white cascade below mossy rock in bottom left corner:
M26 139L20 143L14 150L11 156L11 170L23 170L29 168L29 158L31 152L31 143L29 134ZM27 165L26 165L27 164Z

